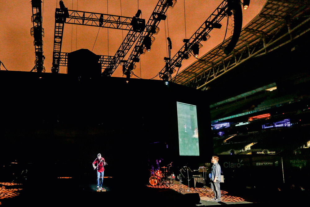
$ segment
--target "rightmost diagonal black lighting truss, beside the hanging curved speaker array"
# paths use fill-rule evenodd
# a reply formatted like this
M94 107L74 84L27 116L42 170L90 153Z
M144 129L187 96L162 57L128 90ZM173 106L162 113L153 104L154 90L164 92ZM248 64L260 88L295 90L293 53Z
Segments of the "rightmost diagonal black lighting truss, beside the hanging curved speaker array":
M171 77L171 74L175 72L176 65L181 65L182 60L191 52L191 47L194 44L198 44L202 41L203 35L209 36L210 31L213 29L213 24L218 24L226 15L228 10L228 1L224 0L219 7L206 19L197 31L189 38L188 43L184 43L183 47L171 58L170 70L166 70L164 67L159 72L159 77L164 79L165 77Z

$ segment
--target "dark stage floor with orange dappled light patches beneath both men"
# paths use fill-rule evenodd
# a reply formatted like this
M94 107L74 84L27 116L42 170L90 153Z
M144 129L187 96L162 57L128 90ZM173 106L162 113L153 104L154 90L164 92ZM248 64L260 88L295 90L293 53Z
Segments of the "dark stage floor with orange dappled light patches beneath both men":
M0 206L47 206L47 205L107 205L107 206L207 206L207 205L242 205L265 206L284 205L302 201L294 200L298 193L301 197L308 197L308 191L299 192L270 192L259 191L230 191L222 190L221 202L210 199L213 192L209 188L190 188L181 185L184 192L179 193L179 182L174 185L137 186L135 182L123 180L123 185L113 186L112 178L104 179L105 192L97 192L95 184L77 183L74 179L63 178L53 181L50 185L11 185L0 183ZM71 187L70 187L71 186Z

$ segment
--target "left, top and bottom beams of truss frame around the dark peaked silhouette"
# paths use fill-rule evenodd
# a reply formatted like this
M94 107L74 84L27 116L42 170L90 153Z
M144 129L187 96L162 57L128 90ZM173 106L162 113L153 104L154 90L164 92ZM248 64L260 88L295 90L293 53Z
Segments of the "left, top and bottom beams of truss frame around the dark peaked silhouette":
M67 65L68 53L61 52L64 24L88 25L112 29L128 30L132 33L143 31L145 20L137 17L124 17L108 14L100 14L85 11L68 10L64 2L59 2L60 8L55 10L55 30L54 30L54 50L52 73L59 73L59 66ZM113 56L100 56L100 63L103 67L108 67L107 62L113 62Z

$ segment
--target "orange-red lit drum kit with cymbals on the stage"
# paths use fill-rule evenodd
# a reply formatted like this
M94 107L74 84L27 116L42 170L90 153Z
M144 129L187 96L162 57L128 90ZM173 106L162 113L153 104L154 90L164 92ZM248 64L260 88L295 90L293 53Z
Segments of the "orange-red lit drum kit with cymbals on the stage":
M149 178L149 182L152 186L158 185L170 185L172 184L172 179L173 176L171 173L167 171L167 167L162 167L163 168L163 173L160 169L154 171L154 170L149 170L151 171L151 177Z

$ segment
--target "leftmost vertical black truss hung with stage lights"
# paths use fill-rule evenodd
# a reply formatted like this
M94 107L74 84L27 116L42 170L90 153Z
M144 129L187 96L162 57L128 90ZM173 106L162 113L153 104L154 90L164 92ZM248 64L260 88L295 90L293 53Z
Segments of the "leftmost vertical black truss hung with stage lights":
M36 71L38 73L45 72L45 68L43 66L44 63L44 55L43 55L43 40L44 37L44 29L42 28L42 11L41 11L41 0L32 0L32 16L31 21L33 23L33 28L30 29L30 34L33 36L34 41L34 49L36 60L34 61L34 67L31 71Z

